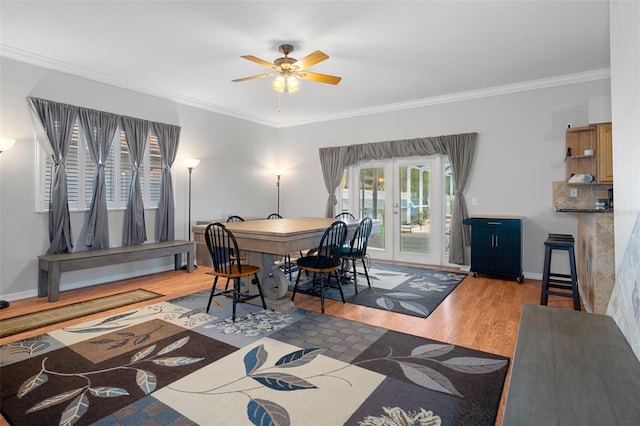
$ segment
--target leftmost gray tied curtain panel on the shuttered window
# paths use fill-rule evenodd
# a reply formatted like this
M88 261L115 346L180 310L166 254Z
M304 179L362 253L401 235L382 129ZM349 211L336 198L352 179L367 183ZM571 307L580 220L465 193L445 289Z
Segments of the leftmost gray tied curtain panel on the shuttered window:
M66 253L73 249L67 171L65 159L78 117L78 108L45 99L27 98L29 110L37 119L50 144L53 169L49 203L49 249L47 254Z

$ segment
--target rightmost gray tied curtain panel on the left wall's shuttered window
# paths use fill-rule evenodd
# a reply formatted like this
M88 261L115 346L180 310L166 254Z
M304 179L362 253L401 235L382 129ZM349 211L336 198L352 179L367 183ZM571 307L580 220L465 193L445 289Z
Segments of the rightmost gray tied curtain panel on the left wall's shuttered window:
M153 123L162 156L162 180L160 182L160 204L156 215L156 238L158 241L175 239L175 207L171 167L176 159L180 142L180 127L171 124Z

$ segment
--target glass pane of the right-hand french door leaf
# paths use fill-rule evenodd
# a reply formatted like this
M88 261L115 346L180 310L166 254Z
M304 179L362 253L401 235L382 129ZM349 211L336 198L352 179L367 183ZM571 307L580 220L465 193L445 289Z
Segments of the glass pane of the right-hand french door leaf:
M401 252L431 254L429 175L427 164L399 168Z

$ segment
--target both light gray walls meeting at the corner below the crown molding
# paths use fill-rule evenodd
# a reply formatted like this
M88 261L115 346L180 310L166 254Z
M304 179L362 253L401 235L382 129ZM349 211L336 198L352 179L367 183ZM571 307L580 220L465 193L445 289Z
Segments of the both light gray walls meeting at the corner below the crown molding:
M46 216L34 213L35 142L26 96L180 125L181 145L174 170L177 238L187 235L187 171L180 167L181 159L202 160L193 172L194 221L227 214L266 216L274 211L275 168L286 171L281 213L318 216L324 214L327 198L318 148L478 132L477 156L466 198L478 198L479 203L469 206L469 211L526 217L524 270L533 277L540 276L546 235L577 232L575 216L555 213L551 207L551 182L564 178L566 124L587 124L592 116L590 103L610 96L609 81L601 80L273 129L6 58L0 58L0 66L2 135L18 139L12 151L2 154L0 171L3 298L35 294L36 258L48 246ZM120 216L114 213L110 217L117 241ZM84 214L73 215L75 239L83 218ZM150 211L150 239L152 218ZM142 263L64 274L62 289L171 266L170 261L162 265Z

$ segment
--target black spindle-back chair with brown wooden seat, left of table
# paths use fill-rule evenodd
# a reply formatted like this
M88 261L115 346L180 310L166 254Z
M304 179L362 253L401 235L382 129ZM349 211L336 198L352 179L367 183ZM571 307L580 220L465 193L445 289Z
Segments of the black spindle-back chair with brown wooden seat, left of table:
M240 262L236 262L232 253L238 253L238 243L236 242L233 233L229 231L222 223L215 222L207 226L205 230L205 241L211 260L213 263L212 275L215 276L213 280L213 286L211 287L211 294L209 295L209 303L207 304L207 313L211 308L211 301L216 296L227 296L233 300L233 314L232 320L236 320L236 304L245 302L255 297L260 297L262 300L262 307L267 309L267 305L264 301L264 295L262 293L262 286L258 279L258 272L260 267L254 265L247 265ZM241 278L250 277L252 284L255 284L258 288L258 293L250 293L250 286L244 284ZM219 278L226 278L227 285L224 290L216 291L216 284ZM233 288L229 289L229 280L233 280ZM244 287L244 288L243 288Z

